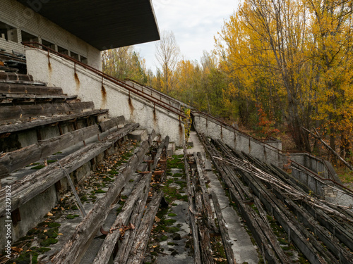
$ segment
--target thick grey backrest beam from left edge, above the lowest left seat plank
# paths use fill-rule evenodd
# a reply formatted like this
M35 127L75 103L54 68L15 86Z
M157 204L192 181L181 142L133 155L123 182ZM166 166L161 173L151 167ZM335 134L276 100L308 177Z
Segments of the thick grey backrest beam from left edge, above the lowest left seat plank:
M23 168L24 166L47 158L48 156L73 146L78 142L82 142L92 136L100 133L98 125L91 125L90 127L83 127L80 130L68 132L59 137L52 137L45 139L40 143L25 146L22 149L4 153L0 158L0 164L6 167L7 172L13 172Z

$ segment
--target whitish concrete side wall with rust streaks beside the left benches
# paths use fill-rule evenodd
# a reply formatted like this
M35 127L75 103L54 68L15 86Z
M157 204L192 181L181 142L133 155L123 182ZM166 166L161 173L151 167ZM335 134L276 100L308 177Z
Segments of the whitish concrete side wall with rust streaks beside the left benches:
M80 65L38 49L26 49L28 74L36 81L47 82L48 86L61 87L64 93L77 94L81 101L93 101L95 108L109 109L109 116L124 115L129 122L138 122L150 133L155 130L170 142L184 146L184 123L179 116L160 106L129 93L124 87L103 80ZM49 69L50 61L50 69ZM154 112L155 111L155 112Z

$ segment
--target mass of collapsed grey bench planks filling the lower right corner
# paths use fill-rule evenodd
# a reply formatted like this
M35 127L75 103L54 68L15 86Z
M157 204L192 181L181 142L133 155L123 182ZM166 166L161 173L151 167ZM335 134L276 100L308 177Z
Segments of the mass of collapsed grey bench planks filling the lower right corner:
M273 165L200 137L268 263L292 263L298 253L289 251L301 251L310 263L352 263L349 208L307 194L307 187Z

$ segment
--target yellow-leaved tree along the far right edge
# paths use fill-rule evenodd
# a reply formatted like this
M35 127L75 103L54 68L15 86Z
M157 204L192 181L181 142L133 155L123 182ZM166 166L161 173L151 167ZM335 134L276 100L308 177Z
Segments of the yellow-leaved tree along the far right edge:
M316 115L330 146L350 155L352 144L353 1L304 0L311 23L309 49L316 76ZM333 156L334 158L335 156Z

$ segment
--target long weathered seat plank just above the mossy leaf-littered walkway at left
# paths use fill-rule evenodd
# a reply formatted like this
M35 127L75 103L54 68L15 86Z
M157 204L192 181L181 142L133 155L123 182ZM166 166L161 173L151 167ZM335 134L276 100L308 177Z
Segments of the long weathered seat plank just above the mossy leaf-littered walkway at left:
M71 173L98 154L102 153L106 149L109 149L109 147L113 146L116 141L126 136L137 127L138 124L126 125L120 130L110 134L109 137L104 139L104 141L85 146L83 149L62 158L60 163L68 173ZM148 143L145 144L148 145ZM140 156L138 156L138 158L140 158ZM30 201L30 199L42 193L63 177L65 177L64 172L59 168L57 163L52 163L37 172L33 172L32 174L23 177L23 179L18 182L11 184L11 210L15 210L27 201ZM4 190L0 190L0 197L5 197ZM4 198L0 199L0 216L4 215L5 212L5 203L3 203L3 200Z

